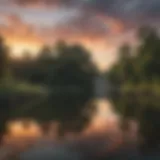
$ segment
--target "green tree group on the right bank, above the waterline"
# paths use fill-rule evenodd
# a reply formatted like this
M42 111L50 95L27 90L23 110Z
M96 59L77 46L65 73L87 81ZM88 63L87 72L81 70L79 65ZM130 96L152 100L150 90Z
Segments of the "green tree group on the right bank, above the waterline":
M140 43L134 56L130 54L129 46L120 49L120 58L109 72L113 79L125 84L160 79L160 37L154 29L146 27L139 29L138 37Z

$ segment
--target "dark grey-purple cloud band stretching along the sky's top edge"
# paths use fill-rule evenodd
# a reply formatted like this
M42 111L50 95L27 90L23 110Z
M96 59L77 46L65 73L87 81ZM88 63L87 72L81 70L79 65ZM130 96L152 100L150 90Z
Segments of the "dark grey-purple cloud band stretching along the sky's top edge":
M143 25L148 19L160 17L159 0L11 0L12 4L27 8L77 9L88 15L102 15L119 19L134 25Z

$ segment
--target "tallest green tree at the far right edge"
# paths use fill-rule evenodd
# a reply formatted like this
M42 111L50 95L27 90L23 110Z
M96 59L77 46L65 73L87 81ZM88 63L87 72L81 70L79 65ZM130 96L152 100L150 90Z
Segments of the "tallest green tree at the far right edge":
M143 68L144 79L151 82L154 78L160 78L160 37L154 29L145 28L140 29L139 38L141 40L138 48L140 67Z

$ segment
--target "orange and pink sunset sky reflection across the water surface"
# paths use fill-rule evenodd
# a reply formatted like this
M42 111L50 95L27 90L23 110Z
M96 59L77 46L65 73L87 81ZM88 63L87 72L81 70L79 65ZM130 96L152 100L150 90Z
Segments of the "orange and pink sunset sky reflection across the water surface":
M121 100L124 102L124 99ZM72 153L80 154L78 155L80 157L86 156L86 159L92 159L93 156L96 157L95 159L99 159L99 156L105 158L109 156L119 158L121 156L122 159L127 156L137 156L139 123L136 117L134 117L134 120L132 120L133 117L129 117L130 119L127 119L128 128L122 130L121 123L124 117L120 116L120 111L112 102L113 99L112 101L104 98L93 100L94 110L91 110L90 120L87 126L84 126L82 132L75 133L75 130L72 132L69 129L65 132L64 137L59 137L59 135L57 136L59 123L55 121L43 125L34 120L27 121L27 123L24 120L19 120L8 123L8 131L10 132L8 135L12 138L25 137L29 140L34 137L36 139L34 147L21 154L22 159L28 156L34 159L44 154L47 154L48 157L60 156L55 153L56 151L64 151L63 158L66 157L66 154L72 155ZM120 102L120 99L117 102ZM150 120L148 118L148 121ZM150 126L151 123L148 123L146 128L150 128ZM46 132L43 132L46 128Z

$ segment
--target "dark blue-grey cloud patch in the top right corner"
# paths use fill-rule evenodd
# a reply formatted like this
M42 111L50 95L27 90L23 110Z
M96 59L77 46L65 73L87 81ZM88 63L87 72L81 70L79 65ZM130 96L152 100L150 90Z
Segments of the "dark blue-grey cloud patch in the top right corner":
M160 16L159 0L91 0L88 7L97 12L119 18Z

